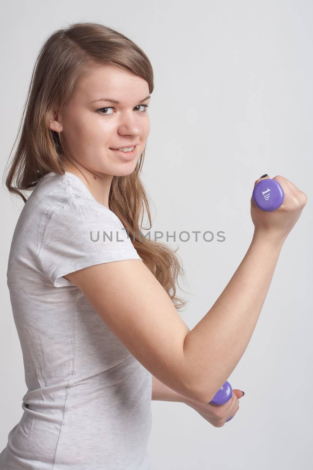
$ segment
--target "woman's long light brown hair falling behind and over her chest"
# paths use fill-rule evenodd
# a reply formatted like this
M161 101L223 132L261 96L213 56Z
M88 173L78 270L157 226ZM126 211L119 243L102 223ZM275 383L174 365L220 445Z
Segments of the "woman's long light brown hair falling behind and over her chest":
M13 148L19 134L20 138L6 178L8 190L22 197L24 203L27 199L21 190L33 189L38 178L46 173L63 175L65 172L67 159L61 133L52 131L49 126L53 110L55 107L60 111L63 109L78 80L90 71L92 65L106 63L144 78L150 94L153 92L153 69L148 57L133 41L103 24L71 24L68 28L54 31L41 47ZM178 248L172 250L163 243L140 236L142 228L152 227L148 199L139 177L144 157L145 149L130 175L113 177L109 208L129 230L130 240L140 258L179 310L186 301L176 297L178 276L185 274L176 255ZM150 227L142 227L145 209Z

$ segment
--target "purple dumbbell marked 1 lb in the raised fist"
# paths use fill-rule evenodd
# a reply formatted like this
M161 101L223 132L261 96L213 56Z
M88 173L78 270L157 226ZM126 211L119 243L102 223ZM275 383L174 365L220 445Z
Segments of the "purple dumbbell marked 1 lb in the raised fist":
M259 209L273 212L282 205L285 195L278 181L266 178L255 185L252 197Z

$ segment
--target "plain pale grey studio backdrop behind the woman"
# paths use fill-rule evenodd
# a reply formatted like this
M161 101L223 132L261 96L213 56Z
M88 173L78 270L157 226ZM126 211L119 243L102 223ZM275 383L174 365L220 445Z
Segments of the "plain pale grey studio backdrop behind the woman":
M6 8L0 31L2 170L34 61L52 31L76 21L100 22L149 56L155 89L142 179L152 200L152 230L214 233L212 242L170 242L180 246L186 272L182 287L189 302L181 315L190 329L251 243L254 181L280 174L307 194L252 339L229 377L245 392L237 415L214 428L184 404L153 401L148 447L153 470L307 468L313 457L312 2L20 0ZM27 391L6 279L22 207L2 185L0 450L22 416ZM217 242L219 230L223 243Z

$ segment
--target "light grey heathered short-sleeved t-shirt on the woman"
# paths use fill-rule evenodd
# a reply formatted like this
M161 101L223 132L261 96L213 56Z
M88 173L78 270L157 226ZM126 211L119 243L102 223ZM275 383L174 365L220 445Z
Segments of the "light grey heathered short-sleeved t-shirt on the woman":
M62 277L123 259L141 258L76 175L38 181L8 259L28 390L0 470L150 469L152 376Z

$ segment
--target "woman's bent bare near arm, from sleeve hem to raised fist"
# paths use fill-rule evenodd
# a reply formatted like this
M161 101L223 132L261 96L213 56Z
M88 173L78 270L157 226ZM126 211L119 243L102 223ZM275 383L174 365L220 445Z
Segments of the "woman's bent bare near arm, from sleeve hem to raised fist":
M191 331L138 259L64 276L153 376L188 398L208 403L236 367L259 318L282 244L305 206L304 193L280 176L275 179L285 193L282 206L269 213L251 200L252 243L221 296Z

